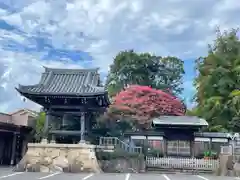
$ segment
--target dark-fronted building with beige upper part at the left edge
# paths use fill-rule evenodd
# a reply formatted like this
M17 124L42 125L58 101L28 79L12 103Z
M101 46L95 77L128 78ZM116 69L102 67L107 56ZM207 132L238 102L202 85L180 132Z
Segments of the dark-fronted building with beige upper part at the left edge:
M12 114L0 113L1 166L15 165L24 156L33 130L28 122L34 117L24 109Z

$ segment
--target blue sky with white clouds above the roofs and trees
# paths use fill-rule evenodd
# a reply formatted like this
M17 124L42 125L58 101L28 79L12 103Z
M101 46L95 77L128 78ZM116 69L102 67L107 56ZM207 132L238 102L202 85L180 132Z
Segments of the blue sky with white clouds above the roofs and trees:
M0 0L0 111L39 109L14 90L37 83L42 66L100 67L107 74L122 50L177 56L184 94L194 93L194 60L222 30L240 24L237 0Z

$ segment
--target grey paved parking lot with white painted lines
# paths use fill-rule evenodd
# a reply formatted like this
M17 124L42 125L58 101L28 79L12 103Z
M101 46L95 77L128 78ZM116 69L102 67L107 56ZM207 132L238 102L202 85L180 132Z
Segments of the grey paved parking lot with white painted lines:
M240 180L237 177L184 174L68 174L12 172L0 169L0 180Z

